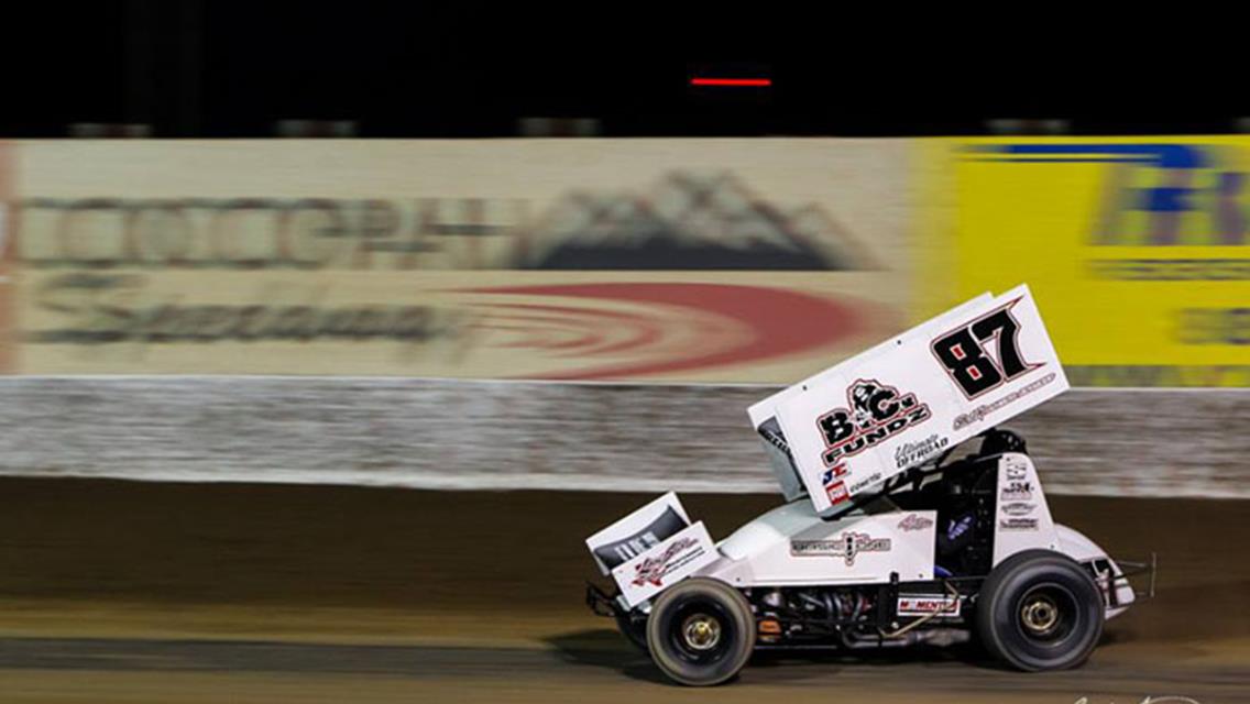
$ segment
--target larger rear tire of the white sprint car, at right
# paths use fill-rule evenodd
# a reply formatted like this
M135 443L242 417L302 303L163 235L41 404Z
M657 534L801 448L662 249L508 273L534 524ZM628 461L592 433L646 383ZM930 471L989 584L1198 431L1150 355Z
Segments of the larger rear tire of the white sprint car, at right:
M1025 671L1062 670L1089 658L1102 635L1102 595L1071 558L1025 550L1002 560L976 604L976 630L999 661Z

